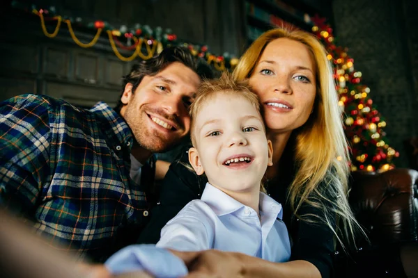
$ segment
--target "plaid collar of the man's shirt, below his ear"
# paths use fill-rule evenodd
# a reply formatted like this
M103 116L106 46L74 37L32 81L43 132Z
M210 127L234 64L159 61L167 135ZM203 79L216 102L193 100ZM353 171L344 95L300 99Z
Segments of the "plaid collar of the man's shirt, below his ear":
M133 137L130 127L127 125L123 117L118 115L110 106L103 101L99 101L90 109L100 119L104 125L104 130L107 133L112 133L116 136L118 142L115 144L122 144L132 147Z

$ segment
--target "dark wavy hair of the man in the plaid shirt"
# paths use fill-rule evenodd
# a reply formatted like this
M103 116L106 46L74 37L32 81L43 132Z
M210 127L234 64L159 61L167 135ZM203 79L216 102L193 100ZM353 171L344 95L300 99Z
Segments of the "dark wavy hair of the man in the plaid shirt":
M196 60L189 49L185 47L167 47L159 55L132 66L130 73L123 76L121 97L127 83L132 84L132 93L134 93L144 76L155 76L174 62L179 62L189 67L201 79L213 78L213 72L209 65L203 60ZM114 109L117 113L121 113L121 108L123 107L121 97L119 97L118 105Z

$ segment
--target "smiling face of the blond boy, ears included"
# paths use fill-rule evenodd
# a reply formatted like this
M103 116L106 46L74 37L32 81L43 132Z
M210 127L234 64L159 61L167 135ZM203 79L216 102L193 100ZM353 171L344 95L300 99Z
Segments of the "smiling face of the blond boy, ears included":
M196 149L189 150L189 161L197 174L206 172L212 186L227 194L260 189L272 165L272 144L261 115L247 99L218 92L203 104L193 136Z

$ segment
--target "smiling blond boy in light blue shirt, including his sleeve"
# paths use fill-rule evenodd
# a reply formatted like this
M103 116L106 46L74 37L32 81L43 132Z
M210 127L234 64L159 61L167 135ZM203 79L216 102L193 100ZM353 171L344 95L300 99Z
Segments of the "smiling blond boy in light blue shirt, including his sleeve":
M256 95L224 74L200 85L190 116L189 162L196 174L208 177L203 195L167 223L156 247L132 245L112 256L106 265L114 274L187 275L183 261L166 250L217 249L274 262L290 258L281 205L260 192L272 165L272 144Z

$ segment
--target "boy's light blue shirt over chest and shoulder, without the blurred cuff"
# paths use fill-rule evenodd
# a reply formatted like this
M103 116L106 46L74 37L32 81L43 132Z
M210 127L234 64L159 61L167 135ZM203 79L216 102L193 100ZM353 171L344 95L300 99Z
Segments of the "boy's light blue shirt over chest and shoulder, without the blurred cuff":
M281 204L260 193L259 210L206 183L201 199L189 202L161 231L157 247L178 251L217 249L288 261L291 245Z

